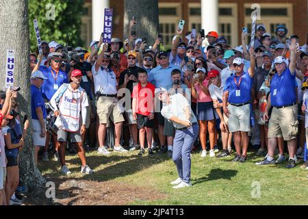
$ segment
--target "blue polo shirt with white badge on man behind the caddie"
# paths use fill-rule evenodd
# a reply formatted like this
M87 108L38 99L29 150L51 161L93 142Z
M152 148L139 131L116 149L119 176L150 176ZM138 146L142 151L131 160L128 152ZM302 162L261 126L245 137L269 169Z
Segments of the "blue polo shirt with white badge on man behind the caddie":
M42 95L44 99L50 101L51 97L53 97L53 94L55 94L57 89L59 89L63 83L68 83L67 75L61 69L57 75L57 73L51 69L51 67L47 68L45 66L40 66L39 70L44 74L44 77L47 77L47 79L44 80L44 83L42 84Z

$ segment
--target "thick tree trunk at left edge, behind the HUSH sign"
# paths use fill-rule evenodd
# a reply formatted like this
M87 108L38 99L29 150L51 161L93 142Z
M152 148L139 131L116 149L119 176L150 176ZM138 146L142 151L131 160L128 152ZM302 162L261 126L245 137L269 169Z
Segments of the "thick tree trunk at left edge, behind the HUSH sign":
M0 0L0 88L5 90L6 54L8 49L15 52L14 86L21 87L18 94L18 112L21 121L25 114L31 121L31 92L29 68L29 23L27 0ZM31 30L31 31L34 31ZM34 162L34 147L31 127L25 140L25 146L19 153L21 181L31 189L45 182Z

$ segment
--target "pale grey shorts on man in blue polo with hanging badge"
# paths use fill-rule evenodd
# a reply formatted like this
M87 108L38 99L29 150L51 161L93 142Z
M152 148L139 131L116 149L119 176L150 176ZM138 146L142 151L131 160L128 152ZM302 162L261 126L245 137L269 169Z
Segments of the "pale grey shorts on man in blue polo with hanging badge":
M251 107L249 104L235 107L229 104L229 131L251 131Z

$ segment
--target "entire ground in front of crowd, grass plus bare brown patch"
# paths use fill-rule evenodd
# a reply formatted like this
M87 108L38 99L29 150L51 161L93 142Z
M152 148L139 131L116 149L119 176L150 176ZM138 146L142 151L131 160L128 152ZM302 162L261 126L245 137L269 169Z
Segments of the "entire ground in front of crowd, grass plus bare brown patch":
M172 189L177 179L175 164L166 155L138 151L127 154L86 154L94 175L82 175L77 155L67 155L66 177L57 162L40 163L47 181L55 181L56 199L62 205L307 205L308 170L293 169L285 163L257 166L260 157L248 154L246 163L233 163L232 157L217 159L192 155L192 187ZM73 184L72 184L73 181ZM76 185L77 182L77 185ZM79 183L78 183L79 182ZM72 184L72 185L71 185ZM79 186L80 185L80 186ZM252 187L253 186L253 187ZM257 194L259 186L259 197ZM69 191L69 192L67 192ZM101 194L105 194L101 195ZM107 196L106 196L107 194ZM125 195L124 195L125 194ZM31 202L29 203L31 204Z

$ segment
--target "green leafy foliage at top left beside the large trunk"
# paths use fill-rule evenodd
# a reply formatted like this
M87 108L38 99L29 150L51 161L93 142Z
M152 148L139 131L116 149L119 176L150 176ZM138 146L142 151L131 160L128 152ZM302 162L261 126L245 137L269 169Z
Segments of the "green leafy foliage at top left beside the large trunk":
M54 20L49 20L52 8L47 5L51 3L55 7ZM69 34L68 45L77 47L82 44L81 15L84 0L29 0L29 32L30 49L38 52L36 34L34 31L34 19L38 19L40 39L47 42L55 41L66 45L66 33Z

